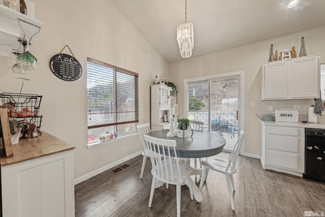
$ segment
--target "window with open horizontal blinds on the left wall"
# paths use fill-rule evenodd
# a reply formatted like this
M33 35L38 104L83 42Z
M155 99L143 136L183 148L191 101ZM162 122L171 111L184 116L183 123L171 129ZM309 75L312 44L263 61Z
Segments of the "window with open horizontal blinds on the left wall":
M87 58L88 142L136 132L138 74Z

